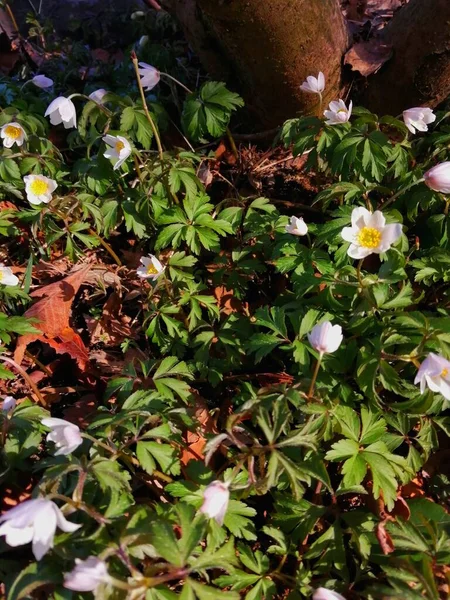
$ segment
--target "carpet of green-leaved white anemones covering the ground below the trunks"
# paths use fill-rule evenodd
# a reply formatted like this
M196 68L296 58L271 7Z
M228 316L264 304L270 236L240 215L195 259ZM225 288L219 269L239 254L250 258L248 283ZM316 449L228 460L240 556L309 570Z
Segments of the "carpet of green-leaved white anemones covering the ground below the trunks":
M1 82L5 597L446 598L449 114L259 150L139 19Z

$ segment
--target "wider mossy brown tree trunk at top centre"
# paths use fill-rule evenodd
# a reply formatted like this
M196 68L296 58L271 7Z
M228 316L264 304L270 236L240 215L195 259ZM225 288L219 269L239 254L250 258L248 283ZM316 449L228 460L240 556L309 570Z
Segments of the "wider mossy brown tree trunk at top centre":
M318 97L299 87L307 75L323 71L324 101L339 97L348 44L339 0L172 0L171 10L206 69L265 125L317 111Z

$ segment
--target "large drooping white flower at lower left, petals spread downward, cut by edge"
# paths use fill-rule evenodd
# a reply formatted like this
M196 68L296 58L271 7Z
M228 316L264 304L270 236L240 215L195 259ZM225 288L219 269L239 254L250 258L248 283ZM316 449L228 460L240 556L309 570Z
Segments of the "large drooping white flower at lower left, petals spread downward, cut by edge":
M56 528L66 533L76 531L81 525L66 521L64 515L51 500L38 498L25 500L0 517L0 535L6 536L10 546L23 546L33 541L36 560L53 548Z

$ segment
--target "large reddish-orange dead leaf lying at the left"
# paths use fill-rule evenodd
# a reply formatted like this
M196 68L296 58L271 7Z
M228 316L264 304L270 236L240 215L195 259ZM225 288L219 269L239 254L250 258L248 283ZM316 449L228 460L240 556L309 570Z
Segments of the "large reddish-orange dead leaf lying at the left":
M21 364L28 344L40 340L49 344L59 354L68 353L84 369L89 360L88 351L80 336L70 326L72 302L86 278L91 265L85 265L71 275L41 287L31 293L40 298L29 308L24 316L38 319L35 324L41 334L22 335L17 340L14 360Z

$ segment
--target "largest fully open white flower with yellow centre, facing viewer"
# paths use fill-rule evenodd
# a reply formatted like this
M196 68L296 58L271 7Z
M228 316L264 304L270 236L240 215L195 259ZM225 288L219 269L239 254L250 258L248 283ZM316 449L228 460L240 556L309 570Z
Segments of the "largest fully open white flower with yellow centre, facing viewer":
M386 252L402 235L400 223L386 225L386 219L381 211L371 213L359 206L352 212L352 226L344 227L341 236L350 242L347 253L351 258L365 258L374 252Z

